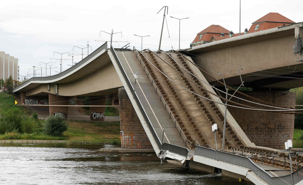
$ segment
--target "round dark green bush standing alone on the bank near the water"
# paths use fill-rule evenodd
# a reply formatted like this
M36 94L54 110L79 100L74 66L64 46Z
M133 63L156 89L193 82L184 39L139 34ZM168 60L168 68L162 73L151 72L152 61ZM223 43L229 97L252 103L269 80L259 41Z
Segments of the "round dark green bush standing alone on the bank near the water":
M67 130L68 123L65 121L65 118L59 116L50 115L44 122L44 132L47 135L60 137L63 135L63 132Z

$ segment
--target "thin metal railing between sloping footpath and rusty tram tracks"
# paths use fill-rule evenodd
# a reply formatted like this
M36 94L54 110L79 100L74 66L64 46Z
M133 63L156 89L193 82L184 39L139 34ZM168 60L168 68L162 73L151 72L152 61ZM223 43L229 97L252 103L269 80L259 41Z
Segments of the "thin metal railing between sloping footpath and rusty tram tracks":
M143 68L143 69L144 69L144 71L145 71L146 65L144 64L144 62L143 62L141 56L138 55L138 54L139 54L138 52L140 52L140 51L138 51L138 50L134 50L134 51L135 51L135 53L136 53L136 56L139 57L139 59L140 59L140 65L141 65L141 63L144 65L144 68ZM142 52L140 52L140 54L142 54ZM143 54L142 54L142 55L143 55ZM148 58L146 58L146 59L149 60ZM150 61L150 60L149 60L149 61ZM150 63L151 63L151 61L150 61ZM148 70L146 70L146 72L147 72L148 76L151 76L151 74L150 74L150 72L149 72ZM152 77L151 77L151 85L152 85L153 83L154 83L154 81L153 81L153 79L152 79ZM155 84L155 83L154 83L154 84ZM158 87L156 86L156 84L155 84L155 88L156 88L156 92L158 92L158 94L160 95L160 101L163 100L162 102L163 102L164 107L165 107L164 110L167 110L167 111L170 113L170 118L172 117L173 120L174 120L174 127L177 126L176 128L180 131L180 136L182 136L182 138L184 139L184 141L185 141L185 146L186 146L186 144L188 143L188 144L191 145L191 149L193 149L193 147L195 146L195 142L196 142L198 145L200 145L197 141L191 142L191 141L189 141L189 140L186 138L186 136L185 136L183 130L182 130L181 127L177 124L177 120L176 120L175 117L173 116L173 112L171 111L170 107L167 105L167 103L166 103L164 97L162 96L162 94L161 94L160 90L158 89Z

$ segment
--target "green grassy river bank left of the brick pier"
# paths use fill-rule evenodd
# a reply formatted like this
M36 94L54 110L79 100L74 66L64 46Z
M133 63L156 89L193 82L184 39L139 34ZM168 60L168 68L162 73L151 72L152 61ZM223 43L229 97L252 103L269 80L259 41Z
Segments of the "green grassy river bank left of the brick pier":
M68 140L68 144L120 144L119 122L67 121L67 131L61 137L53 137L43 132L44 120L28 117L26 108L16 106L14 102L13 95L0 93L0 130L1 128L2 130L7 129L7 125L14 125L12 123L15 121L14 117L19 116L17 121L22 120L22 125L19 125L20 129L2 131L0 140ZM18 115L9 112L10 110L15 110L14 112L18 112ZM3 119L7 115L10 116L9 121Z

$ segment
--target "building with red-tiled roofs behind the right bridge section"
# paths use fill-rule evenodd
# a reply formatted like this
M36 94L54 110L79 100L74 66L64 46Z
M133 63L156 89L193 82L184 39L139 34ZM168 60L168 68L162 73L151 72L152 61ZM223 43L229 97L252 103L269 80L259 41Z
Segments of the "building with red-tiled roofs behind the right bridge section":
M279 26L292 24L292 23L295 22L288 18L285 18L279 13L270 12L265 16L263 16L262 18L253 22L249 30L245 28L245 31L241 33L241 35L259 32L271 28L276 28ZM229 31L220 25L212 24L197 34L194 41L190 44L190 47L194 47L197 45L206 44L209 42L214 42L217 40L222 40L230 37L237 37L237 36L239 36L239 33L234 34L233 31Z

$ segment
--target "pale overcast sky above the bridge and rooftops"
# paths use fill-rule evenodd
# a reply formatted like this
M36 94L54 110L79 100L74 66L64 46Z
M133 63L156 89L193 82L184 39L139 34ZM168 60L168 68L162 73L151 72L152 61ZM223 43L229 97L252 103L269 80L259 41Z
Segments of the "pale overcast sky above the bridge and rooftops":
M159 47L164 8L168 14L164 23L161 49L179 48L179 20L181 20L180 48L189 48L197 33L212 24L218 24L234 33L239 32L240 0L5 0L0 11L0 51L19 59L20 75L33 76L32 66L37 66L37 76L60 72L61 55L63 71L74 62L110 40L113 29L115 48L129 44L141 50ZM241 0L241 32L251 23L269 12L278 12L295 22L303 21L302 0ZM159 12L160 11L160 12ZM159 13L158 13L159 12ZM158 13L158 14L157 14ZM103 32L101 32L103 31ZM85 49L79 49L85 48ZM109 47L109 43L108 43ZM47 71L45 74L45 64ZM40 65L41 64L41 65ZM56 68L57 67L57 68ZM37 68L36 68L37 69ZM20 76L20 80L22 76Z

